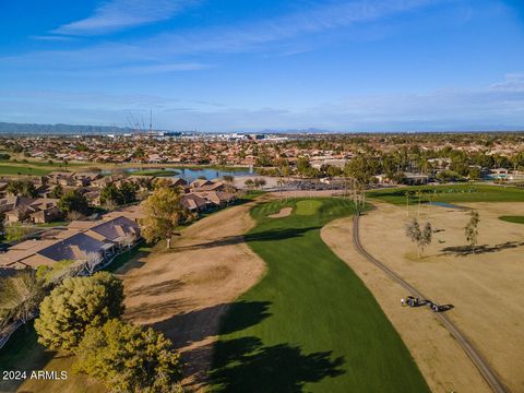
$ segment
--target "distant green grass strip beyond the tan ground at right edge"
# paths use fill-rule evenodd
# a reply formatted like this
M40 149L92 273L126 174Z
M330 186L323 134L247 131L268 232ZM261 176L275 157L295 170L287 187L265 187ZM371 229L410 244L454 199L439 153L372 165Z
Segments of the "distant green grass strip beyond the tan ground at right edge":
M524 202L524 189L516 187L453 184L402 187L369 191L368 198L379 199L393 204L406 204L406 192L410 192L410 202L418 202L416 192L421 191L424 202Z

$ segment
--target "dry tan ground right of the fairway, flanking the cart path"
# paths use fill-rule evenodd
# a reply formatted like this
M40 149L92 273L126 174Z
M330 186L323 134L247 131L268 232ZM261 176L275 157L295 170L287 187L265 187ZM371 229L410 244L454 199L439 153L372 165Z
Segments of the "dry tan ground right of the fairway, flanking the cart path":
M416 247L404 233L404 226L410 219L406 207L377 203L378 209L361 218L361 242L373 257L385 262L430 299L452 303L454 309L448 315L479 349L503 383L513 392L522 392L524 305L519 299L522 299L524 287L524 226L498 217L523 215L524 203L461 205L476 209L480 214L479 247L475 254L465 247L464 226L469 218L468 212L441 206L420 207L419 221L422 224L429 221L437 229L432 245L420 260ZM418 216L418 206L412 206L410 217L414 216ZM350 223L342 226L345 235L341 233L340 236L344 235L344 241L350 245ZM336 234L335 229L333 231ZM338 247L338 250L335 247L336 252L347 248L340 241L335 245ZM457 345L445 337L445 331L434 326L434 319L431 323L427 318L427 310L400 308L398 298L407 294L384 282L380 272L364 266L358 262L361 259L349 253L345 260L357 266L357 273L377 294L433 388L441 385L461 392L479 392L485 388L465 355L458 354ZM430 372L434 376L429 377Z

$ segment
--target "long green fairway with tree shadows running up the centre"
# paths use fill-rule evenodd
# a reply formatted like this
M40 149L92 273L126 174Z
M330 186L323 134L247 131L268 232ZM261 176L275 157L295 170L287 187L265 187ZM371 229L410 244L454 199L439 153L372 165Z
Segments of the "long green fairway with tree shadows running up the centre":
M320 238L352 203L319 199L313 215L267 218L301 201L252 210L246 240L267 271L223 319L212 391L429 392L372 295Z

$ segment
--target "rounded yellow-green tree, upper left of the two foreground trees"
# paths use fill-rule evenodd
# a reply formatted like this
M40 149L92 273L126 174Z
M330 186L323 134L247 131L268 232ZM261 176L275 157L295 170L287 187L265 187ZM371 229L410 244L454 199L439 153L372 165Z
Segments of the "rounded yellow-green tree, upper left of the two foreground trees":
M123 313L122 282L107 272L63 281L40 305L38 342L74 352L87 327L99 327Z

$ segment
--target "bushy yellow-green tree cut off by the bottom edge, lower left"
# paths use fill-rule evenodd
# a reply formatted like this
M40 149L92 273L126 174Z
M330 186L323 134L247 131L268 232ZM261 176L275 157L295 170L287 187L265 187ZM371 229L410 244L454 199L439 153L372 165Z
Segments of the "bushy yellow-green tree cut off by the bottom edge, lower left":
M181 364L172 344L152 327L119 320L85 332L76 372L100 379L116 392L179 392Z

